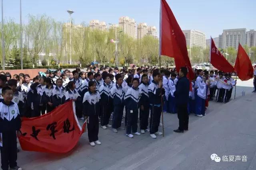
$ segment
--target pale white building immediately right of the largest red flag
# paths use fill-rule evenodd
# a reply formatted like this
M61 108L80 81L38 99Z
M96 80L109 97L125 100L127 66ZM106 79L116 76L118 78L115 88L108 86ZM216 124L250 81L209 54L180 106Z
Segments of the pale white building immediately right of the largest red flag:
M186 38L186 44L188 48L193 46L206 47L206 35L203 32L197 30L182 30Z

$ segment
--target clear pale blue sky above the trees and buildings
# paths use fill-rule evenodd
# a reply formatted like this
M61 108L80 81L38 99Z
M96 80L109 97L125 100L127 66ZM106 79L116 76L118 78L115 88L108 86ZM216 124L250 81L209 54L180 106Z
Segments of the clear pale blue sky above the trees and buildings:
M256 0L167 0L182 30L196 29L206 38L217 37L223 29L256 29ZM74 11L76 24L98 19L118 23L121 16L156 26L159 33L160 0L22 0L22 22L28 14L46 14L66 22L66 10ZM20 21L20 0L4 0L4 18Z

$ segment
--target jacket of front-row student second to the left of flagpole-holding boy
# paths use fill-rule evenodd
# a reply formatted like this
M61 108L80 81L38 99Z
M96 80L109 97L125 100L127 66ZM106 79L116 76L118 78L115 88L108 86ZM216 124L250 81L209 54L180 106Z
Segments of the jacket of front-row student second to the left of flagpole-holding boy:
M126 110L137 110L140 106L140 89L137 88L130 88L125 93L124 101Z

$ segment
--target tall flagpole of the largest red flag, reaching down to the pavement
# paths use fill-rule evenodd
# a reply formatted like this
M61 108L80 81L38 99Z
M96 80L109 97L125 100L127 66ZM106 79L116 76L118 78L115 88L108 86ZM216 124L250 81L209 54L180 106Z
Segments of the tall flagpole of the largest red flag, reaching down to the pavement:
M160 12L159 12L159 67L161 70L161 36L162 36L162 0L160 0ZM162 97L162 87L161 87L161 116L162 116L162 131L164 137L164 114L163 114L163 97Z

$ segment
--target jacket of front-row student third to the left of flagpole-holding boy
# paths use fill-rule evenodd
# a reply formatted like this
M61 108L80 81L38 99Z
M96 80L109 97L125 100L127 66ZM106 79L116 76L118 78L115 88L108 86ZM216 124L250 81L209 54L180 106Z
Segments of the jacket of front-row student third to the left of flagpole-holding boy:
M124 90L122 88L122 85L119 86L116 84L115 86L112 87L110 90L110 95L113 99L113 104L114 105L124 105Z

